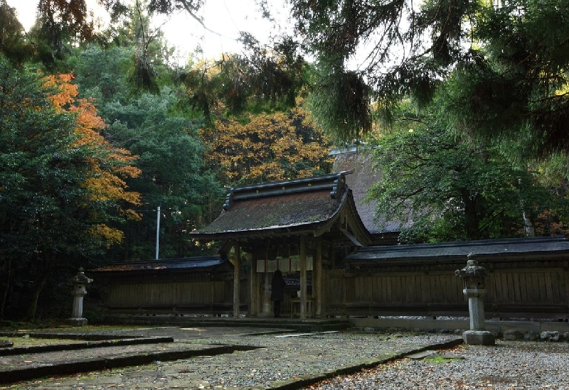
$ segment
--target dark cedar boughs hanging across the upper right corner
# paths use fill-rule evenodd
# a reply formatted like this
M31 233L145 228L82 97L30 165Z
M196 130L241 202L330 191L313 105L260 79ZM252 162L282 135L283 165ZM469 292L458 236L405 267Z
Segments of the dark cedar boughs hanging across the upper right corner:
M457 134L523 141L537 156L569 151L567 1L289 2L319 61L314 112L339 138L370 131L374 114L392 121L403 97L422 107L442 88Z

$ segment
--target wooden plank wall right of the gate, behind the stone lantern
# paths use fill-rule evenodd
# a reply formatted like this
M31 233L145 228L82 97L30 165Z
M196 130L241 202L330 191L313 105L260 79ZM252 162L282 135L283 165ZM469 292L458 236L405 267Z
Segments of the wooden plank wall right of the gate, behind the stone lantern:
M484 306L487 318L569 318L568 261L492 261ZM455 316L468 315L462 264L415 264L324 273L327 315Z

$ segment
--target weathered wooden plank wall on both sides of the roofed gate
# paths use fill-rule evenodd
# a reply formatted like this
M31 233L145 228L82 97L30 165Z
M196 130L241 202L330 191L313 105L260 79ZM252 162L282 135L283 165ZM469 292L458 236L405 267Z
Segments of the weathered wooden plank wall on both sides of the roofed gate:
M484 305L487 318L569 319L569 264L551 261L492 261ZM323 310L326 316L465 317L467 300L462 280L454 275L460 264L408 264L359 269L324 270ZM261 287L262 288L262 287ZM317 292L314 292L317 293ZM240 281L240 311L250 310L250 281ZM312 296L309 296L312 315ZM112 313L207 314L233 313L233 275L209 278L117 278L108 285ZM295 315L287 296L283 314ZM257 310L257 313L259 310ZM289 313L288 313L289 312Z

